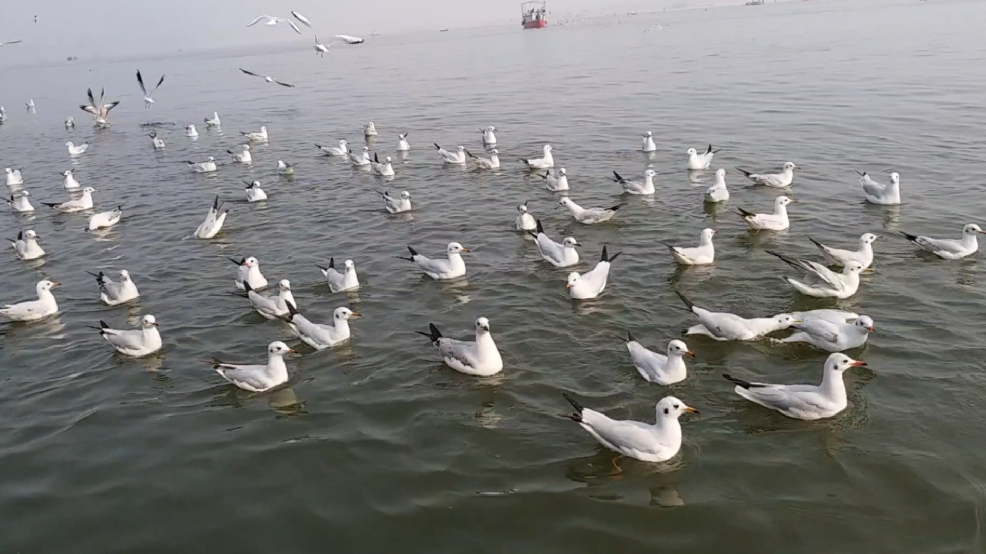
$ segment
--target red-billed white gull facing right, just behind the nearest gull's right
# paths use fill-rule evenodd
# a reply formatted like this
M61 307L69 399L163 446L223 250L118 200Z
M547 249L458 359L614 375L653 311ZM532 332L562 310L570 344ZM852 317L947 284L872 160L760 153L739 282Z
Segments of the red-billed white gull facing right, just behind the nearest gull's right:
M723 377L736 383L736 392L743 398L765 408L803 420L832 417L846 409L846 385L842 374L850 368L866 366L866 362L853 360L845 354L832 354L825 360L821 384L769 384L737 379L728 374Z

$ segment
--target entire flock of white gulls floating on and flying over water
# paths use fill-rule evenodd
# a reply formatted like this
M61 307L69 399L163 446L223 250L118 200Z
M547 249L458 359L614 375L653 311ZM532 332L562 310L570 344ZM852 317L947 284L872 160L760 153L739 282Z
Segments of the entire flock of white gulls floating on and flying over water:
M300 14L292 12L302 24L311 27L311 23ZM261 16L247 27L263 23L275 26L288 23L290 27L301 33L297 25L290 20L277 17ZM259 75L242 70L249 75ZM264 80L286 87L292 85L263 77ZM140 72L137 81L144 95L145 107L155 104L154 93L164 83L164 76L157 82L153 90L148 91ZM99 102L95 100L92 90L88 91L89 104L80 107L93 115L97 126L108 125L107 117L110 110L118 102L105 103L105 91ZM35 104L29 104L29 110L34 110ZM0 107L0 122L6 118L6 112ZM206 125L219 126L221 120L218 113L204 118ZM74 126L70 117L65 122L66 128ZM439 144L435 148L435 162L448 165L472 164L477 171L498 170L501 160L497 149L497 129L488 126L480 129L483 155L476 156L464 146L446 149ZM186 128L188 136L195 136L193 125ZM197 134L197 133L196 133ZM363 128L364 137L368 144L379 133L374 122L368 122ZM269 140L267 128L261 126L257 132L242 133L245 144L239 152L229 151L232 163L250 163L250 143ZM397 152L407 152L411 146L406 132L396 134ZM164 141L151 133L152 146L156 149L165 148ZM657 150L653 133L643 135L640 150L654 153ZM88 151L88 144L76 146L66 143L71 156L83 156ZM371 158L369 146L363 146L359 152L353 152L345 140L340 140L338 146L323 146L316 144L317 149L326 156L341 157L353 166L369 168L373 173L382 177L392 177L394 172L390 157L380 160L378 154ZM543 179L544 188L550 192L562 192L556 208L564 208L576 222L594 226L617 217L620 208L626 206L622 202L612 206L586 207L576 203L568 192L568 173L564 168L555 169L553 148L545 144L537 157L520 159L518 163L530 174ZM712 145L705 149L690 148L685 152L686 160L682 170L688 172L703 172L712 167L716 153ZM212 157L201 162L187 162L188 168L195 173L214 173L220 165ZM782 190L785 193L776 197L772 213L755 213L738 208L737 215L754 232L777 232L791 227L788 206L797 201L787 192L795 184L795 170L792 162L783 165L780 173L752 173L737 169L740 174L754 185ZM290 176L295 168L282 160L277 163L277 173ZM730 197L726 184L726 170L715 171L715 181L703 194L705 202L724 202ZM98 192L92 186L82 186L71 171L62 173L63 186L72 193L72 197L60 203L42 203L53 210L62 213L93 212L93 193ZM642 179L626 178L619 173L610 177L625 194L649 196L656 193L654 178L656 173L647 169ZM16 213L30 213L35 207L30 201L30 193L22 188L25 175L21 170L6 169L6 183L16 192L11 194L7 204ZM860 173L860 185L863 196L868 202L880 205L894 205L901 202L900 178L897 173L891 173L889 182L882 184L869 173ZM246 181L246 199L250 202L266 200L267 196L258 180ZM401 190L393 195L388 190L376 191L383 200L387 213L396 214L415 210L412 196L408 190ZM87 226L88 231L105 229L116 225L122 214L122 207L99 212L92 215ZM219 234L223 228L229 210L223 209L223 202L218 196L209 207L202 224L194 231L194 237L207 240ZM513 228L522 236L529 236L540 256L550 265L557 268L577 265L581 256L577 248L581 247L574 237L562 237L560 242L551 238L544 230L539 219L530 213L528 203L517 207L517 216L513 220ZM931 252L944 259L958 259L972 255L978 250L977 236L983 230L976 224L969 223L962 228L959 239L933 239L910 234L902 236L916 244L922 250ZM665 243L669 254L681 265L707 265L715 261L714 239L716 231L704 229L699 235L697 245L675 245ZM817 247L819 258L799 258L782 252L767 250L790 266L798 276L788 276L784 280L798 293L815 298L846 299L854 296L860 287L860 274L870 271L874 262L873 243L879 237L872 233L862 235L855 249L837 248L821 242L810 241ZM34 230L25 230L12 239L11 244L18 258L23 260L37 259L46 255L39 244L41 240ZM414 247L407 246L408 255L402 257L424 275L435 280L453 280L466 275L467 267L462 257L468 253L468 248L458 242L449 242L444 257L429 257L419 253ZM622 252L610 254L606 246L602 247L595 266L584 273L571 272L566 280L569 296L576 301L595 299L601 295L608 284L613 262ZM290 325L298 337L316 350L331 348L350 340L350 320L359 317L358 312L348 308L337 308L332 313L331 322L319 323L300 312L295 301L291 283L287 279L268 282L260 271L257 258L248 256L241 259L230 258L237 267L234 280L235 287L242 291L252 309L267 319L282 320ZM841 268L841 269L840 269ZM334 259L327 266L319 268L331 293L355 291L360 288L360 280L353 260L344 260L342 267L335 267ZM100 299L107 306L117 306L129 303L140 297L140 293L126 271L120 271L118 280L113 280L103 272L93 274ZM0 308L0 314L19 321L34 321L58 312L57 301L51 290L59 284L47 279L36 284L36 300L10 304ZM265 296L260 291L274 287L276 296ZM675 291L676 292L676 291ZM848 406L843 374L852 368L865 366L862 361L855 360L842 352L860 348L867 343L875 330L871 316L844 312L839 310L814 310L810 312L792 312L766 314L755 317L745 317L731 312L714 312L695 304L681 293L676 292L684 305L684 310L691 313L697 320L696 324L685 330L684 335L701 335L717 341L752 341L769 340L777 342L800 342L809 344L817 349L829 352L824 361L821 381L818 384L777 384L757 381L746 381L738 377L724 375L725 379L735 385L735 391L741 397L765 408L775 410L786 416L814 420L832 417ZM427 337L437 349L444 363L455 371L475 377L494 376L504 369L504 362L493 339L491 323L486 317L478 317L473 322L473 340L458 340L444 336L435 324L430 324L428 332L418 331ZM100 321L100 334L120 354L126 356L146 356L162 348L161 334L154 315L145 315L139 327L135 329L112 328ZM794 332L785 338L774 338L769 335L778 331L792 329ZM694 354L680 339L669 341L665 353L655 352L644 347L631 333L620 337L625 341L630 360L640 376L649 382L669 385L683 381L687 377L686 357ZM295 353L282 341L273 341L267 348L265 364L232 364L215 358L205 360L225 380L251 392L265 392L285 384L289 379L284 357ZM619 454L645 461L665 461L676 455L681 447L682 431L678 418L686 413L697 413L697 410L686 405L673 396L662 398L656 406L656 422L654 424L632 421L614 420L598 411L584 407L574 398L565 394L574 412L569 415L572 420L581 425L600 445Z

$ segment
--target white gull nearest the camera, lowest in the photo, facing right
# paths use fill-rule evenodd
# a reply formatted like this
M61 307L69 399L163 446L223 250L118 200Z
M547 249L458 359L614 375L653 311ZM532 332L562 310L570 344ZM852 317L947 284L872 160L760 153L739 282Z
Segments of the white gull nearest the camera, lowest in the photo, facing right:
M612 419L583 407L564 392L562 395L575 408L575 413L566 417L581 425L606 449L641 461L667 461L677 455L681 450L678 418L683 413L698 413L674 396L665 396L655 407L657 421L650 425L630 419Z

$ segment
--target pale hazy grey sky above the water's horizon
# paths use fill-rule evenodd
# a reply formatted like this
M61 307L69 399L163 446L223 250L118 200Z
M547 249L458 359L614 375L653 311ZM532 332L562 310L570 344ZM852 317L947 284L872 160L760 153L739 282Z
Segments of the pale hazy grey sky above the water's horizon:
M741 4L741 0L549 0L554 17ZM0 19L0 65L60 60L68 55L116 58L177 49L305 40L288 27L250 28L259 15L296 10L319 35L369 35L425 29L518 24L518 0L11 0ZM37 16L37 23L34 17ZM308 30L306 30L307 32ZM19 50L15 50L18 48Z

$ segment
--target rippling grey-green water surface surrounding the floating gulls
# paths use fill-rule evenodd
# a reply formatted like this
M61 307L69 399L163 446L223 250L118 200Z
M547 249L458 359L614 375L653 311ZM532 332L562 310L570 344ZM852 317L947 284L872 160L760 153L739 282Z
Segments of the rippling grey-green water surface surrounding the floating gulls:
M982 552L982 261L918 254L896 232L957 237L983 223L986 6L858 4L381 36L325 59L299 44L0 72L10 111L0 165L25 168L35 201L66 197L56 173L74 168L100 190L98 208L125 203L125 219L96 235L82 232L84 216L43 206L0 216L4 237L35 229L49 253L25 263L8 250L0 300L31 297L42 276L64 284L56 318L0 326L0 552ZM137 67L168 75L153 109L140 102ZM94 131L76 105L104 86L123 103L111 130ZM29 98L36 114L19 108ZM221 132L183 136L213 110ZM374 149L400 162L392 182L313 146L359 144L371 119ZM139 126L151 121L173 123L159 130L164 152ZM201 176L181 164L222 159L238 131L261 124L271 138L251 167ZM556 198L514 162L492 173L441 165L432 142L478 151L488 124L505 161L554 145L577 201L620 201L606 175L647 164L658 194L587 228L552 211ZM653 161L635 152L648 129ZM399 159L404 131L414 149ZM67 140L90 152L70 160ZM732 207L766 210L776 191L747 188L737 173L729 206L703 208L711 175L690 179L683 153L709 142L723 149L717 167L802 168L790 232L744 230ZM297 164L294 180L276 178L278 159ZM864 204L854 169L901 173L906 203ZM260 178L270 200L237 203L244 178ZM382 213L379 187L410 190L418 211ZM222 235L189 239L216 194L232 207ZM603 244L624 252L601 299L573 304L567 271L511 232L525 200L552 235L574 233L585 260ZM715 266L677 268L661 241L694 242L704 227L719 230ZM865 232L882 237L876 272L848 301L796 295L764 253L813 255L806 235L851 245ZM435 283L395 258L404 244L438 253L450 241L474 250L467 283ZM226 258L245 255L268 278L290 279L313 318L362 312L352 344L315 353L250 312L229 294ZM364 289L330 295L316 268L329 256L354 259ZM124 268L142 298L102 306L85 270ZM746 314L873 316L877 334L854 353L870 367L848 376L849 409L788 420L720 378L815 381L825 353L802 347L690 338L698 358L686 381L642 381L613 336L631 329L663 349L692 323L673 289ZM146 313L165 348L145 359L114 354L85 327ZM456 374L413 332L435 322L466 336L479 315L507 363L495 379ZM302 352L276 393L246 394L196 361L262 361L275 339ZM624 459L617 473L613 454L559 417L562 390L617 417L651 420L669 393L702 414L683 422L678 458Z

